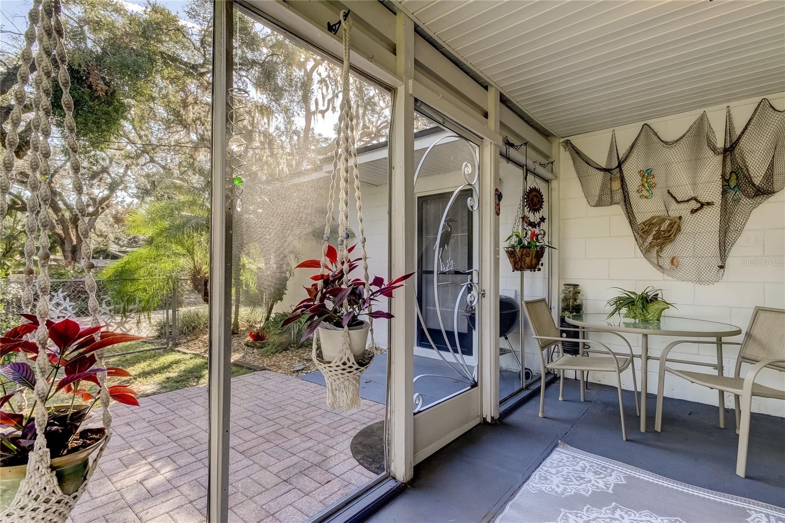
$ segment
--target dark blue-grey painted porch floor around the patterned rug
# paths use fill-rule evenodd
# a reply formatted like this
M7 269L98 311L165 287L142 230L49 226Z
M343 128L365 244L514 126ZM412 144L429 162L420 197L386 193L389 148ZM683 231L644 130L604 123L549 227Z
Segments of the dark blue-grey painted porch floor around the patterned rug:
M414 480L373 514L374 523L493 521L559 441L690 485L785 507L785 419L753 414L747 478L736 476L733 411L725 429L717 407L666 398L663 432L654 430L648 397L647 433L637 430L631 391L624 393L627 441L622 440L615 388L590 384L586 402L578 382L546 388L546 418L532 397L493 425L478 425L414 468ZM699 521L696 523L731 523Z

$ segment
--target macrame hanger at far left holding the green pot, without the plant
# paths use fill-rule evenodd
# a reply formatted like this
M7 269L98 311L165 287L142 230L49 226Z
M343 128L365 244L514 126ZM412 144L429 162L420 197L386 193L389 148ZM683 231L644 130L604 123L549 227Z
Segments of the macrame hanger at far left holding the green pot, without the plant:
M2 521L18 523L63 523L68 518L76 502L85 492L90 477L97 468L98 460L104 453L111 436L111 415L109 413L109 392L105 373L98 374L100 401L103 411L103 423L106 437L98 448L97 454L89 464L85 480L79 489L71 495L60 490L57 476L50 468L51 456L46 448L45 427L48 417L46 411L46 395L48 384L46 368L49 359L46 345L49 333L46 320L49 320L49 189L52 172L49 158L52 154L49 137L52 134L50 117L52 115L52 79L54 67L52 57L57 60L57 82L63 92L61 104L64 109L64 127L71 171L71 184L76 195L75 209L79 220L78 234L82 240L82 267L85 269L85 284L89 295L88 310L93 326L98 324L98 302L96 299L96 281L93 277L93 251L89 244L89 235L94 221L87 218L82 180L79 177L79 146L76 142L76 123L73 116L74 101L69 93L71 79L68 75L68 57L64 48L64 29L60 20L60 2L57 0L33 0L33 7L28 14L29 26L24 33L24 48L21 53L21 67L16 75L16 90L13 94L14 107L9 116L9 132L5 141L5 153L0 172L0 220L8 210L6 198L10 191L10 176L13 175L15 163L14 152L19 144L19 126L22 108L27 100L25 86L30 79L30 65L33 62L33 46L37 43L35 54L35 76L33 85L35 95L32 100L34 109L31 120L30 152L27 155L30 172L27 176L27 221L25 230L27 241L24 245L24 291L22 305L26 312L31 312L36 301L33 292L35 278L35 238L38 233L38 278L36 291L38 299L35 303L35 316L38 318L38 330L35 331L35 342L38 344L38 357L35 360L35 428L37 436L33 450L27 458L27 471L9 507L0 514ZM97 367L105 368L104 349L96 352Z

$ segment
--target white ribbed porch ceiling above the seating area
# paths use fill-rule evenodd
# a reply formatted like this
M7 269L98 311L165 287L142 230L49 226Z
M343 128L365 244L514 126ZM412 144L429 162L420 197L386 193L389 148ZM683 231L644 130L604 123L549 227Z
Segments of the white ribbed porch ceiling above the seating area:
M399 0L561 137L785 90L785 2Z

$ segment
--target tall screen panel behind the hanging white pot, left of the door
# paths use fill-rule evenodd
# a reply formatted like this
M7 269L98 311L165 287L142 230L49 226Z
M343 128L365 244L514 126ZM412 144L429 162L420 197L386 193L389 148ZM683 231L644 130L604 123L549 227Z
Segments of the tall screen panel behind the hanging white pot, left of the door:
M361 377L361 408L330 411L305 318L283 324L319 273L298 265L322 255L341 70L271 24L243 13L235 24L235 64L265 65L235 75L230 97L235 273L226 314L232 357L266 370L232 380L229 517L305 521L385 471L386 355ZM351 95L369 272L388 280L391 98L358 76ZM360 232L351 193L353 244ZM329 243L336 247L337 203L333 223ZM374 308L386 310L386 300ZM387 346L386 320L374 320L374 338Z

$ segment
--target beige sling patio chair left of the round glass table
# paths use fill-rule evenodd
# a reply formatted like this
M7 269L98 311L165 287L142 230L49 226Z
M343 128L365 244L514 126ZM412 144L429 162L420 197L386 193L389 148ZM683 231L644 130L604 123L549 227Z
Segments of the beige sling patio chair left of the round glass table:
M553 321L550 313L550 306L546 298L537 298L524 301L524 312L529 318L531 331L534 332L532 338L539 342L540 369L542 371L540 379L540 411L539 417L545 418L545 376L546 370L557 371L559 373L559 400L564 401L564 371L576 371L580 375L581 401L584 400L584 373L595 372L615 372L616 388L619 391L619 415L622 419L622 439L627 441L627 433L624 426L624 405L622 402L622 372L628 367L633 370L633 387L635 389L635 410L640 415L640 408L637 400L637 381L635 379L635 364L633 363L633 349L630 342L622 335L618 335L626 343L629 354L615 353L604 343L591 340L592 346L600 346L602 349L590 349L584 346L588 342L586 338L569 338L570 342L580 343L580 353L577 356L564 354L564 347L561 346L563 338L560 337L559 327ZM587 331L579 328L562 328L563 331ZM566 338L564 338L566 339ZM546 364L545 357L542 355L547 349L557 347L559 355L556 360ZM599 353L605 356L586 357L587 353Z

